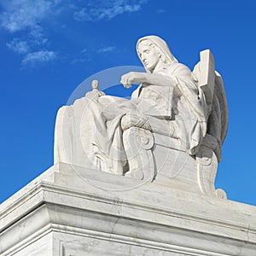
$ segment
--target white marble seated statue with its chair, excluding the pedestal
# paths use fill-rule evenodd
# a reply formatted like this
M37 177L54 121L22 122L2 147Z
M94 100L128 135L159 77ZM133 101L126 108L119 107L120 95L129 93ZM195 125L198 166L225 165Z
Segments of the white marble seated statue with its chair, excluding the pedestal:
M193 72L156 36L140 38L137 54L146 72L120 81L140 84L131 100L106 96L94 80L92 91L59 110L55 162L224 197L214 179L228 108L210 50Z

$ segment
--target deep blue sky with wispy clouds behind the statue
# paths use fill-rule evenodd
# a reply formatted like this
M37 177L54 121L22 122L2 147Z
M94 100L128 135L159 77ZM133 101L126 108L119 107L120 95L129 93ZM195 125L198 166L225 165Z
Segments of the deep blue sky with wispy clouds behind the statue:
M154 34L190 68L212 49L230 111L216 187L256 206L255 9L254 0L0 0L0 202L53 164L55 114L73 90L109 67L142 66L137 38Z

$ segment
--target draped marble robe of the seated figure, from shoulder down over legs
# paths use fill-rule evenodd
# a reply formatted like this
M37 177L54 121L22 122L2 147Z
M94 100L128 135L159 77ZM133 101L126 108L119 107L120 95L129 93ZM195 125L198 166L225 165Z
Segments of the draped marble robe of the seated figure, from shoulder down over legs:
M196 154L207 132L203 92L181 63L173 62L158 74L170 79L170 84L141 84L131 100L84 96L62 107L55 126L55 162L122 174L127 162L121 119L129 113L150 117L152 127L154 121L167 123L163 127L175 129L175 137L185 143L188 154Z

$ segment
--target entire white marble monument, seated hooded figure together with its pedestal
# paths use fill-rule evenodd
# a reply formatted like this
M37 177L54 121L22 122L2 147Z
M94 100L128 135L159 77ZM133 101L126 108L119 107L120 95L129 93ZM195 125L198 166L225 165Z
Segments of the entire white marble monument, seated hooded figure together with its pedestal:
M209 49L191 72L166 43L137 42L131 100L99 82L55 122L55 165L0 205L0 255L256 255L256 208L214 180L227 132Z

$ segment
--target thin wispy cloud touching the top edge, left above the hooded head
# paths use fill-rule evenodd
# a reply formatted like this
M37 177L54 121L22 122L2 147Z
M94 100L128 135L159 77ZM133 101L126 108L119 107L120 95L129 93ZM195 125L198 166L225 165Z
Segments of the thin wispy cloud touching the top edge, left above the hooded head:
M116 15L133 13L142 9L143 3L148 0L106 0L87 1L84 8L74 13L74 19L78 21L110 20Z

